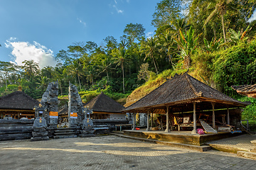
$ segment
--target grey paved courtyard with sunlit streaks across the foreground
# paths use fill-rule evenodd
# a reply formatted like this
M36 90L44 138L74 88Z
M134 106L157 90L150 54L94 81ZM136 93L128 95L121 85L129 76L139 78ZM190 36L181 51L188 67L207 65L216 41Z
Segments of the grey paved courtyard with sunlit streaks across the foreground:
M256 169L256 161L116 136L0 142L0 169Z

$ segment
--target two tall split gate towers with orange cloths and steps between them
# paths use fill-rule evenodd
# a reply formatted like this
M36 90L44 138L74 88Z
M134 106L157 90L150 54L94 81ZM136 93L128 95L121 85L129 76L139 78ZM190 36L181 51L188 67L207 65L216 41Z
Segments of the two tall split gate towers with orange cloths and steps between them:
M50 128L76 128L84 119L78 88L70 84L68 91L68 115L58 114L58 81L51 82L42 96L40 110Z

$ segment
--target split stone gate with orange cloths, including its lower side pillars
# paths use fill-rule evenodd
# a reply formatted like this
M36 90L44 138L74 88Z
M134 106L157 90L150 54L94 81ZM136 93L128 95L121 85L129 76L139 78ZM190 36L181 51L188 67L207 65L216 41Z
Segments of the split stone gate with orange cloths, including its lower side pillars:
M80 131L81 137L92 135L92 120L89 108L83 108L78 88L69 84L68 94L68 128ZM31 141L48 140L48 133L58 129L58 81L51 82L39 106L35 106L36 114L33 123ZM87 118L88 115L88 118Z

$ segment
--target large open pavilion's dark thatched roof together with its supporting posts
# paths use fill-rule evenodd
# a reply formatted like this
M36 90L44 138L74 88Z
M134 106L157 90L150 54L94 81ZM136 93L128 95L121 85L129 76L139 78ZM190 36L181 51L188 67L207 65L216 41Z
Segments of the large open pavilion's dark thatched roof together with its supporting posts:
M128 106L124 113L166 113L167 126L169 110L172 113L186 113L193 111L193 120L196 120L196 111L213 111L213 128L215 128L214 110L220 108L245 107L248 103L230 98L220 91L203 84L191 77L187 72L168 79L164 84ZM228 124L229 124L229 113ZM149 120L149 119L148 119ZM196 130L196 121L194 130ZM149 127L148 127L149 128ZM168 128L166 129L169 132Z

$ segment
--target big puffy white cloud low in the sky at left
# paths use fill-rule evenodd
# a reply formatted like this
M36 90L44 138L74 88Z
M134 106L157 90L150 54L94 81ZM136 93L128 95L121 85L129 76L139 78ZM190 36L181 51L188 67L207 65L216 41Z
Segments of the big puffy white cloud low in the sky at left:
M5 46L11 48L11 55L14 57L14 62L18 65L23 65L24 60L34 60L40 68L46 66L55 66L57 63L53 57L53 51L47 47L34 41L29 42L17 41L16 38L6 40Z

